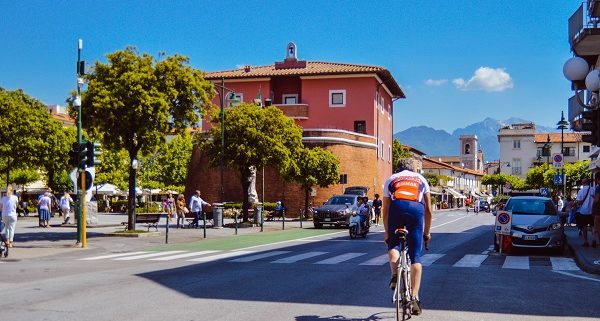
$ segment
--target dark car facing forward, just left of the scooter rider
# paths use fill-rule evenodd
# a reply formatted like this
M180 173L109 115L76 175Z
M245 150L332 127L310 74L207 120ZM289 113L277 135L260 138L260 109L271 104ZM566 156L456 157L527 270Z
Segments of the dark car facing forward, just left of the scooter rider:
M324 224L334 226L348 226L350 215L358 209L359 195L334 195L323 205L315 208L313 223L315 228Z

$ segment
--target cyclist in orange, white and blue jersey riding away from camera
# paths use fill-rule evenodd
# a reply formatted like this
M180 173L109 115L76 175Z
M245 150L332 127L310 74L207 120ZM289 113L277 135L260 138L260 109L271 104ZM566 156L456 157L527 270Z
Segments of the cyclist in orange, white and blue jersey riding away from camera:
M404 226L408 230L406 239L411 261L412 313L420 315L421 252L423 241L429 242L431 239L429 234L431 228L429 183L423 175L413 172L411 159L402 158L398 161L396 173L385 181L383 189L384 240L388 245L392 271L390 288L394 289L398 279L395 273L397 271L396 264L400 257L400 239L394 232Z

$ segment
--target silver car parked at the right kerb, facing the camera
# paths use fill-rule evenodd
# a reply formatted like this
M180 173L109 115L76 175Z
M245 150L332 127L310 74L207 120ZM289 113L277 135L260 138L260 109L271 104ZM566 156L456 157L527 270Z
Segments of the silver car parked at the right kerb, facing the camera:
M510 230L512 246L515 248L550 248L562 253L565 247L564 227L560 213L547 197L511 197L505 211L512 212ZM498 250L499 237L494 238Z

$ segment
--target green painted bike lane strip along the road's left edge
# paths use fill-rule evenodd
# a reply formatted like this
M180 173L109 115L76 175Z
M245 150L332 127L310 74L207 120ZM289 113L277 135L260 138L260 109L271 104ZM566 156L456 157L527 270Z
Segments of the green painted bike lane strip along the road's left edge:
M280 231L264 231L252 234L230 235L216 238L200 239L198 241L164 244L148 248L148 251L234 251L262 245L291 242L311 237L326 235L341 235L347 233L344 229L302 229L295 228Z

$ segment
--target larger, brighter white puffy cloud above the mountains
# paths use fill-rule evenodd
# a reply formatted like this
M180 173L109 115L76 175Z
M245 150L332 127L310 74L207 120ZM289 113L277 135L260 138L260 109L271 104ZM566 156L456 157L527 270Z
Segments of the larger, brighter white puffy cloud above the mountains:
M479 67L471 79L452 80L460 90L505 91L513 87L513 80L504 68Z

